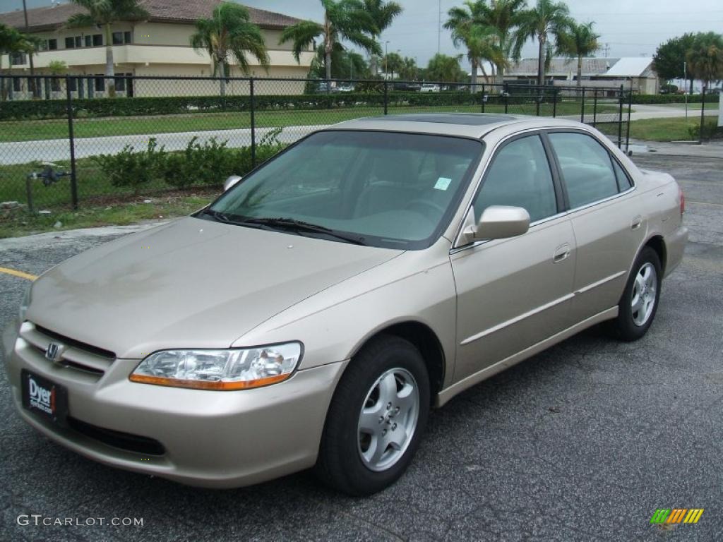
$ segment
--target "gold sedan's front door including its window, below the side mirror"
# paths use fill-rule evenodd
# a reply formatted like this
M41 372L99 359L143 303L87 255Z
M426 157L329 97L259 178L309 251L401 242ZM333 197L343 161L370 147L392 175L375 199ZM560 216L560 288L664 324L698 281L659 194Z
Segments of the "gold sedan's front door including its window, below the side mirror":
M455 380L570 325L575 238L539 134L497 150L474 198L475 220L490 205L524 207L531 225L522 236L477 241L450 256L458 293Z

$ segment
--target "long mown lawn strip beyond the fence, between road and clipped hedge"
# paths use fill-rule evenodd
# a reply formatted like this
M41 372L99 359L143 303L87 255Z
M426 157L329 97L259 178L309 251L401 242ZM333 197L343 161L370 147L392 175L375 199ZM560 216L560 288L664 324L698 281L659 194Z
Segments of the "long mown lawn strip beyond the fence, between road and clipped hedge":
M586 103L587 115L593 113L593 104ZM486 105L487 113L503 113L504 106ZM410 107L390 106L390 114L399 113L432 113L458 112L479 113L481 106L437 106ZM612 103L598 103L600 115L617 113L618 107ZM333 124L335 122L358 119L364 116L382 115L380 107L315 109L310 111L257 111L255 121L257 127L277 126L309 126L314 124ZM508 106L508 113L525 115L536 114L534 103L514 104ZM557 116L577 115L580 104L565 102L557 104ZM552 116L552 105L544 103L540 106L542 116ZM76 119L73 124L75 137L103 137L134 134L160 134L169 132L205 132L225 129L243 129L251 126L251 116L245 112L229 111L226 113L187 113L184 115L148 116L148 117L113 117L104 119ZM68 121L63 119L52 121L4 121L0 122L0 142L34 141L38 139L64 139L68 137ZM0 156L0 163L2 157Z

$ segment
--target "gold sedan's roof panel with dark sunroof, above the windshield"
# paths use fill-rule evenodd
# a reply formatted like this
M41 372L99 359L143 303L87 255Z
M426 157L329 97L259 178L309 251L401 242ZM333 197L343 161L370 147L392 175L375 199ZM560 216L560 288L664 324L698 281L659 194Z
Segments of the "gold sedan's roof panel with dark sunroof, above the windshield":
M565 119L500 113L406 113L344 121L328 129L456 135L479 139L503 126L523 130L555 126L570 128L581 124Z

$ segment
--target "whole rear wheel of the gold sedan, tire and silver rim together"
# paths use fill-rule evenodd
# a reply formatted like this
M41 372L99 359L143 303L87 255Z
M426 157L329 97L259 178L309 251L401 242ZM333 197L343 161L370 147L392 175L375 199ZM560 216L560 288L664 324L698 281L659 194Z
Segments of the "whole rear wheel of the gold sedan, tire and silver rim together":
M646 334L658 309L662 270L656 251L646 246L633 265L618 305L615 333L623 340L638 340Z

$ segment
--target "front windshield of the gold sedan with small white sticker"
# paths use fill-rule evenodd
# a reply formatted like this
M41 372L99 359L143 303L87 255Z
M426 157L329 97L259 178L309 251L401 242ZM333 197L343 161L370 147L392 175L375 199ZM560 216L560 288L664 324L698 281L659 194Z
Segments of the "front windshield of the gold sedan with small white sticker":
M482 149L460 137L318 132L249 174L206 214L332 241L422 249L448 225Z

